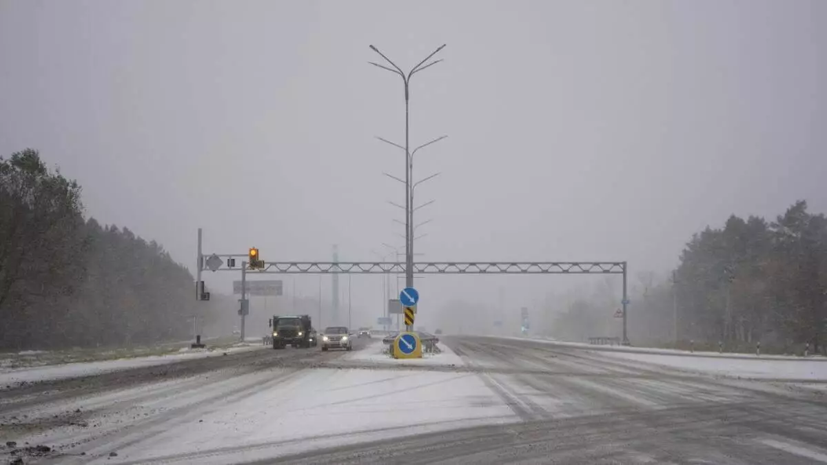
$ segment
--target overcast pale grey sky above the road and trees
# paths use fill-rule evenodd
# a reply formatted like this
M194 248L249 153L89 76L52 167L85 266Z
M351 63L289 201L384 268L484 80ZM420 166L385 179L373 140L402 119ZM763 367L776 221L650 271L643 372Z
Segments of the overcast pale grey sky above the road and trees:
M820 1L0 0L0 153L40 150L190 266L199 226L208 252L372 260L402 244L403 153L374 136L404 141L404 99L368 45L409 68L443 43L412 84L412 145L449 136L414 160L442 172L425 259L661 271L729 213L827 211ZM420 287L517 305L552 280Z

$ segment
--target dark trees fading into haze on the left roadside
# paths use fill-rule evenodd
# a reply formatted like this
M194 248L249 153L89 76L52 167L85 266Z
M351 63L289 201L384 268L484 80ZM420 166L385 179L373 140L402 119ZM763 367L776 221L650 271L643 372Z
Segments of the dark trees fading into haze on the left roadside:
M187 339L213 311L194 292L160 244L85 219L80 186L37 151L0 157L0 349Z

